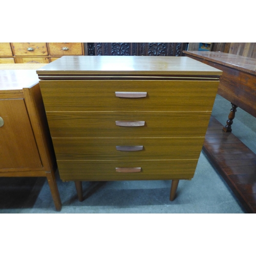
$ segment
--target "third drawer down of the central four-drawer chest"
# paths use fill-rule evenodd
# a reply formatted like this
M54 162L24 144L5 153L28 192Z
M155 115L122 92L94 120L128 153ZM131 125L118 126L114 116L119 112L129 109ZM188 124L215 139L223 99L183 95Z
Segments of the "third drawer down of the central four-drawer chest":
M166 160L198 159L204 137L52 140L58 160Z

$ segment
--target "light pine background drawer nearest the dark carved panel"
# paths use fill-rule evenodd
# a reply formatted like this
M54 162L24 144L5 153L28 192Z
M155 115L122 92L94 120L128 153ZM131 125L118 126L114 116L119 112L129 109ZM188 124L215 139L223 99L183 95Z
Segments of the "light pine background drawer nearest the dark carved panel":
M49 42L50 55L82 55L81 42Z

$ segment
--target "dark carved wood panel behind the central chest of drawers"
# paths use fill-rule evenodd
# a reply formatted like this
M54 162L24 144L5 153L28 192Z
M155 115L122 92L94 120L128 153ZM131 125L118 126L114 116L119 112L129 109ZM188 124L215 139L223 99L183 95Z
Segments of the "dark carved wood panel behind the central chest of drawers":
M88 42L86 55L183 56L184 42Z

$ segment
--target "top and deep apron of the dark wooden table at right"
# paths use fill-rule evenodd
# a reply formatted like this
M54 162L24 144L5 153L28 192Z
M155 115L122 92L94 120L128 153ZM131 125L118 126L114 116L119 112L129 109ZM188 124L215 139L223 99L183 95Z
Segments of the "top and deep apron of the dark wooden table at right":
M186 51L185 55L222 70L218 94L256 117L256 59L221 52Z

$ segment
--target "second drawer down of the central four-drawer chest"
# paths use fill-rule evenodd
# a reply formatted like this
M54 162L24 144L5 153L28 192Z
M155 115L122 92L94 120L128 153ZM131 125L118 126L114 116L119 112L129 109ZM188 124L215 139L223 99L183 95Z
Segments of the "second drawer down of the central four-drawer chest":
M204 137L211 112L47 112L52 137Z

